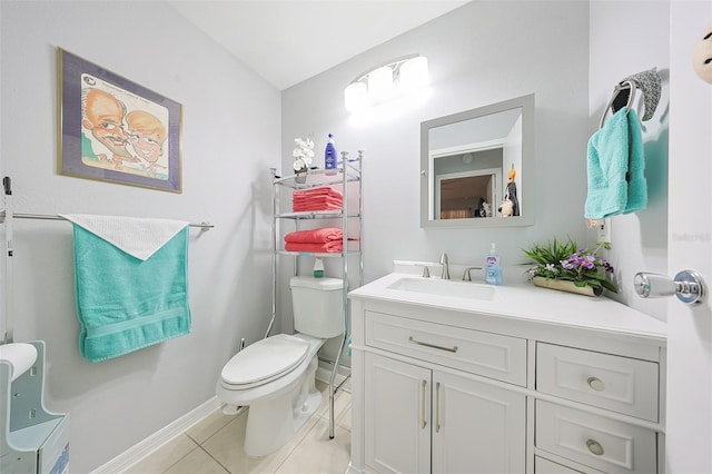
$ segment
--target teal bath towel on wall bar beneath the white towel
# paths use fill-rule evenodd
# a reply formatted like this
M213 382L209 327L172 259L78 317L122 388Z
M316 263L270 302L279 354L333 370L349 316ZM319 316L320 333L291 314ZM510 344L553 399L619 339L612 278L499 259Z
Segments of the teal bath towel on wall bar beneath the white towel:
M188 227L146 260L73 225L79 349L90 362L190 333Z

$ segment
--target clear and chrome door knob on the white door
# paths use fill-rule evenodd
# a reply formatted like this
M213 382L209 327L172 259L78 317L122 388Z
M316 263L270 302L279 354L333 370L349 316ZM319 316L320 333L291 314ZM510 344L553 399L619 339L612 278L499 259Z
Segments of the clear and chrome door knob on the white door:
M670 279L664 275L636 273L633 277L635 293L641 298L659 298L675 295L682 303L690 305L704 300L704 282L695 270L683 270Z

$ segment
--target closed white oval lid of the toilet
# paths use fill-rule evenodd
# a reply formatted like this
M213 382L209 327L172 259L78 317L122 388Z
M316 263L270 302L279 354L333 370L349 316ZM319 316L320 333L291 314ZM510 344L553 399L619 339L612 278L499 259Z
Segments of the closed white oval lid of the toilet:
M309 343L288 334L258 340L237 353L222 368L222 381L247 385L291 371L307 356Z

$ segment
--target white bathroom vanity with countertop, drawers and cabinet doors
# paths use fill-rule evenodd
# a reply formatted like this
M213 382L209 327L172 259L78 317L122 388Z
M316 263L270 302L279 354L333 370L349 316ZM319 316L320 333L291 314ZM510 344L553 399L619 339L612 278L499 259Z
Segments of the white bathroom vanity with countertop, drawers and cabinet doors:
M349 473L664 472L664 323L399 273L349 299Z

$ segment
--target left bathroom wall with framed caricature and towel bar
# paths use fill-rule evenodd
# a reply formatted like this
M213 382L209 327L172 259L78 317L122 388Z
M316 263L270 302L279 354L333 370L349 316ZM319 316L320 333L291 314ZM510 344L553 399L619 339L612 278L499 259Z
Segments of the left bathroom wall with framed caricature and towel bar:
M0 156L18 213L210 221L190 230L192 333L90 364L77 347L71 226L14 220L14 339L47 342L47 407L71 415L87 473L215 396L270 314L270 188L280 96L164 2L2 1ZM56 47L184 106L182 194L56 171Z

